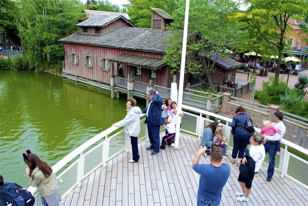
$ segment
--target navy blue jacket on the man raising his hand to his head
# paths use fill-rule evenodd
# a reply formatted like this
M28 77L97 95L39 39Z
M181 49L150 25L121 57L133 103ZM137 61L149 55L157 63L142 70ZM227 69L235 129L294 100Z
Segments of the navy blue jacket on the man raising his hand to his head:
M150 108L145 108L142 110L143 114L146 114L146 111L149 109L148 117L145 120L145 123L149 125L163 125L163 118L162 118L162 105L163 99L155 94L153 95L153 100L150 102Z

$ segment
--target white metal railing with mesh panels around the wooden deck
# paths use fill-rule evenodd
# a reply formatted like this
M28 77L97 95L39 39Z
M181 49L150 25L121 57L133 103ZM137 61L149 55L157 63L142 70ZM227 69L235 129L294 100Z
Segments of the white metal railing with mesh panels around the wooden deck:
M214 121L219 119L224 124L223 132L226 138L228 138L228 147L233 147L233 135L231 134L230 124L232 119L210 113L202 109L198 109L191 106L182 105L184 116L182 118L181 130L192 135L202 137L204 128ZM141 117L144 115L141 115ZM209 116L210 119L206 119L203 116ZM141 122L144 122L142 119ZM141 132L138 140L141 141L147 137L146 124L141 123ZM81 185L81 181L89 174L97 170L100 166L105 166L106 162L113 157L119 155L123 151L128 151L130 147L129 137L125 135L124 129L120 132L112 134L118 127L110 127L104 130L99 135L91 138L78 148L74 149L70 154L57 162L52 170L54 173L60 172L63 168L67 167L60 175L57 176L59 190L62 197L65 197L76 185ZM259 133L260 129L255 128ZM100 142L101 140L101 142ZM103 140L103 141L102 141ZM286 176L298 184L308 188L308 162L297 157L296 155L287 151L288 147L292 147L302 154L308 155L308 150L302 148L292 142L282 139L282 144L285 145L282 150L282 155L276 155L275 169L281 172L281 178ZM268 162L268 155L265 158L265 164ZM69 164L69 165L68 165ZM37 200L35 205L41 205L37 188L30 186L28 190L35 194Z

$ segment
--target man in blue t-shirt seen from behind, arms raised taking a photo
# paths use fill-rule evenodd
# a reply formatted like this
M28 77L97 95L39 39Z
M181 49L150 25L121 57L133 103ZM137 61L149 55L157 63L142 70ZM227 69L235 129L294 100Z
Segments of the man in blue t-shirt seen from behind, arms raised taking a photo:
M231 173L230 166L221 163L222 153L218 147L210 149L210 164L199 164L205 150L206 147L201 146L191 164L191 168L200 174L197 205L219 205L223 187Z

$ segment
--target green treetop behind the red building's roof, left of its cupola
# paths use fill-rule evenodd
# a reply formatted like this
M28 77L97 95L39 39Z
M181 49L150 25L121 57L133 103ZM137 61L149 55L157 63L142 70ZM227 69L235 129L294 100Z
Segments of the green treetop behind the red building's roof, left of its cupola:
M131 22L137 27L151 27L151 10L149 7L163 9L169 14L172 14L177 8L176 0L130 0L130 4L126 6Z

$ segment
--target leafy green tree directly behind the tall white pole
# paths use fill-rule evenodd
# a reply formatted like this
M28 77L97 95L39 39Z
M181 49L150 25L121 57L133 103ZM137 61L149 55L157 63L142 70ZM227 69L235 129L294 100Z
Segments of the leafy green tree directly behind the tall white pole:
M178 1L178 5L179 9L172 16L175 21L169 27L172 34L166 41L163 60L174 68L172 71L179 70L181 66L185 4ZM199 78L206 74L211 86L211 72L215 72L217 58L228 57L227 49L237 41L236 21L229 18L237 7L229 0L195 0L190 3L185 70Z

